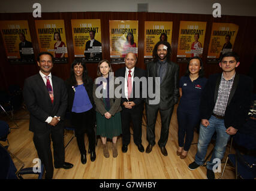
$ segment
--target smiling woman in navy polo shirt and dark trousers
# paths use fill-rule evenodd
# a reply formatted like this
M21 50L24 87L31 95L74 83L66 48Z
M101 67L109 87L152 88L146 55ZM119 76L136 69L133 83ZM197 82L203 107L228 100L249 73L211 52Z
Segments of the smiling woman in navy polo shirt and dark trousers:
M200 57L192 57L188 62L185 76L179 81L180 103L177 108L179 124L177 155L186 158L194 135L194 127L200 122L201 93L207 79L203 78L203 62ZM186 135L186 138L185 138ZM185 138L185 143L184 143Z

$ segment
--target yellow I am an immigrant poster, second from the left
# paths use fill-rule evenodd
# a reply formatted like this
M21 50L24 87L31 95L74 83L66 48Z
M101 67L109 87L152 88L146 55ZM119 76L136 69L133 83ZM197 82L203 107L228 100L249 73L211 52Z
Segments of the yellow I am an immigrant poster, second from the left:
M35 20L40 52L49 52L55 63L67 63L68 51L64 20Z

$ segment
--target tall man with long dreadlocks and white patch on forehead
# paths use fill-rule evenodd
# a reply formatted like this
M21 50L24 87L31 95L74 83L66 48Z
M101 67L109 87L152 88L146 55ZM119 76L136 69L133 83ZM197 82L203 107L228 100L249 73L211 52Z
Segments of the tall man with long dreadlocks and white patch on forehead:
M155 145L155 122L159 110L161 115L161 136L158 146L164 156L168 155L165 144L168 140L173 107L179 97L179 65L170 61L170 54L170 44L167 41L159 41L153 48L153 62L147 64L146 71L147 78L153 77L153 88L156 85L160 89L159 92L155 90L156 94L160 94L159 103L150 104L150 101L152 101L150 95L146 99L147 141L149 141L146 153L150 153ZM156 77L160 78L159 83L157 80L155 81Z

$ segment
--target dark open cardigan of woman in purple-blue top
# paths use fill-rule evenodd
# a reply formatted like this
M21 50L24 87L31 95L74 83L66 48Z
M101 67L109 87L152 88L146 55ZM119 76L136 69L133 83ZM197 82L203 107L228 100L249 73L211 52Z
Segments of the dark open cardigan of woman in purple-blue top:
M83 86L85 87L85 90L87 91L87 94L89 96L89 99L92 103L92 106L94 106L94 98L92 97L92 86L93 86L93 81L92 78L88 77L89 81L88 84L84 84ZM73 90L73 85L71 84L70 79L68 79L67 81L65 81L66 87L67 87L67 91L68 91L68 107L67 110L68 112L71 112L72 107L73 107L73 101L74 101L74 97L75 97L75 92Z

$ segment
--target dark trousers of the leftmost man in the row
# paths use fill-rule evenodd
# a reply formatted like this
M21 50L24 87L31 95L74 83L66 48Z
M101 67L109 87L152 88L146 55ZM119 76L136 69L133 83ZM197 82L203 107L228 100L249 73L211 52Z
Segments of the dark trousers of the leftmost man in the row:
M49 128L46 133L34 133L33 141L37 149L38 157L46 168L47 178L53 177L53 159L51 150L51 138L53 142L53 157L55 168L64 165L64 128Z

